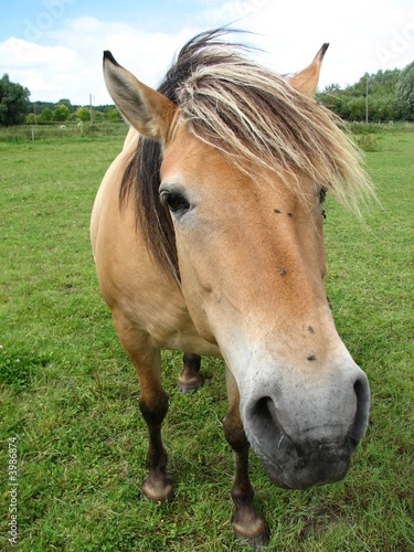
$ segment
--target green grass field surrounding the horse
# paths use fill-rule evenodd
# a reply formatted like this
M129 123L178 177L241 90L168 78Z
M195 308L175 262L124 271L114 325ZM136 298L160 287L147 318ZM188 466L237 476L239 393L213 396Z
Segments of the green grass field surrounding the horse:
M381 206L361 224L328 199L325 226L327 290L339 333L370 379L370 425L346 480L305 492L273 487L252 454L274 551L414 550L414 129L383 128L372 141L367 163ZM22 551L238 549L220 361L204 359L205 384L183 396L174 388L181 355L163 354L176 495L167 506L140 496L147 442L138 385L88 242L97 187L121 144L121 136L0 141L1 550L14 507ZM13 438L17 473L8 473Z

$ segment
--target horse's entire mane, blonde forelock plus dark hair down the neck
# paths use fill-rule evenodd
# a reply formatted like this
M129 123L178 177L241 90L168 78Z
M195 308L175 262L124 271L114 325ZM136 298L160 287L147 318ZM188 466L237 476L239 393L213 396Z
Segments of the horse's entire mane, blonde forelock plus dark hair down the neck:
M359 213L361 200L373 192L338 119L288 79L256 64L248 49L224 41L227 32L209 31L189 41L158 91L179 106L194 136L254 181L261 170L273 173L305 203L311 194L323 198L330 191ZM120 200L135 194L148 250L178 279L172 222L159 199L161 162L160 144L142 136L126 168Z

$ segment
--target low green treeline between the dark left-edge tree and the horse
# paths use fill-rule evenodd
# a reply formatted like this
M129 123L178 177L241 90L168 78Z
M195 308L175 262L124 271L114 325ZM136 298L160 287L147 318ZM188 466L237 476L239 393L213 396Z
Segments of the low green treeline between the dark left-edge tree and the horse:
M72 105L70 99L60 99L56 104L50 102L29 102L25 123L28 125L50 125L51 123L121 120L118 109L114 105L79 106Z

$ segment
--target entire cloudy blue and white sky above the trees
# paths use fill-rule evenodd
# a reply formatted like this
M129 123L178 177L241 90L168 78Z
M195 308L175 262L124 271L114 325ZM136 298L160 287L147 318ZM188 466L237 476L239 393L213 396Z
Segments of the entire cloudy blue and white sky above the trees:
M413 0L0 0L0 76L32 102L112 104L102 54L156 87L198 32L230 24L282 74L306 67L329 42L319 89L414 60Z

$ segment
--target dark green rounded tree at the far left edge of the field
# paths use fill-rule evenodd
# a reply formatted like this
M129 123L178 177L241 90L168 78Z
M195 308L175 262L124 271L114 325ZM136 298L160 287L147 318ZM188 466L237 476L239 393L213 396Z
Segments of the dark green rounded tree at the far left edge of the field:
M21 84L11 83L9 75L0 79L0 126L24 123L30 92Z

